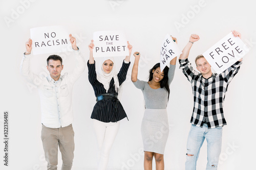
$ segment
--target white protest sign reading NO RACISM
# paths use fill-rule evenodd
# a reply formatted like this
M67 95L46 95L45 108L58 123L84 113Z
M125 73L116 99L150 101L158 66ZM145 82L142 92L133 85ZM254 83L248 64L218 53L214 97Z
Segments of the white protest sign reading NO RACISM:
M72 51L68 31L62 26L30 29L33 54Z

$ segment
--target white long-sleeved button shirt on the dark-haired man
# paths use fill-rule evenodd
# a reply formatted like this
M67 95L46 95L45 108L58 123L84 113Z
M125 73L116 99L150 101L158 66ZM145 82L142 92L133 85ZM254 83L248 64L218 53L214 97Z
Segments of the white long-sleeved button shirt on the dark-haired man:
M81 76L86 62L79 50L74 51L76 66L72 72L61 75L55 81L49 75L37 76L30 71L31 55L24 55L20 65L22 74L38 88L41 103L41 123L48 128L66 127L73 123L72 90L74 82Z

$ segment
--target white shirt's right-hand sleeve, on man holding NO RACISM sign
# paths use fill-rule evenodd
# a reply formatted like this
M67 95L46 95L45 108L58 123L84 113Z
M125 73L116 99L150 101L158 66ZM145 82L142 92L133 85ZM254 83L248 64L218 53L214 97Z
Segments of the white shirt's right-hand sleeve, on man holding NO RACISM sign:
M68 78L70 81L75 82L81 75L86 68L86 62L84 61L84 58L81 56L81 52L79 50L73 50L75 53L75 60L76 65L72 72L69 72Z

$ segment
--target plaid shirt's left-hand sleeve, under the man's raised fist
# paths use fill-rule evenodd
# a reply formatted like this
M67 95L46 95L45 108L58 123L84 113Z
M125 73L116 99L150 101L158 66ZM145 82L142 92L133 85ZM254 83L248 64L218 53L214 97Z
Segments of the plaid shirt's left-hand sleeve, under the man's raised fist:
M188 59L179 60L180 68L183 71L183 74L186 76L187 80L190 83L193 83L195 77L199 75L199 72L195 71L194 68L191 66L191 63Z

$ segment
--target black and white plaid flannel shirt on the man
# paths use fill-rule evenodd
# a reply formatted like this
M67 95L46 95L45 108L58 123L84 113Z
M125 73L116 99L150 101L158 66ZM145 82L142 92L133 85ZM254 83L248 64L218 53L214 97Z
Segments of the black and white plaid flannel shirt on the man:
M188 59L179 60L179 63L183 74L191 83L194 94L194 109L190 123L198 127L207 123L208 129L227 125L223 114L225 92L242 62L237 61L221 74L212 74L208 79L195 71Z

